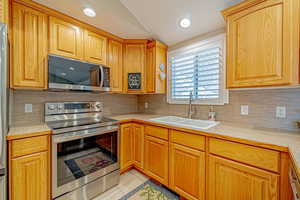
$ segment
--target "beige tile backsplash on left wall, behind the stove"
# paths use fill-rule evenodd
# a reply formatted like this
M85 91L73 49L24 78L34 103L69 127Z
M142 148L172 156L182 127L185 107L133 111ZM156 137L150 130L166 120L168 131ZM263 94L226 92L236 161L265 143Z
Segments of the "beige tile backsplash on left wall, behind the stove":
M10 92L10 125L37 125L44 122L44 103L63 101L101 101L106 116L136 113L137 96L122 94L21 91ZM25 113L25 104L32 104L31 113Z

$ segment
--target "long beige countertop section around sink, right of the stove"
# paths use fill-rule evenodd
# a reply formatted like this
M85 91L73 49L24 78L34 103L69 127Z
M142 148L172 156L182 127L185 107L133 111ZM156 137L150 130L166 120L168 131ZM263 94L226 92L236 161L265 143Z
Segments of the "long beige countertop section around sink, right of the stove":
M162 117L162 115L128 114L128 115L111 116L112 119L120 120L121 122L126 122L131 120L152 122L151 118L155 118L155 117ZM152 122L152 123L157 123L157 122ZM168 125L168 126L175 127L174 125ZM186 127L182 127L182 128L186 128ZM240 125L237 123L228 123L228 122L221 122L219 125L207 130L200 129L200 128L199 129L193 128L191 130L207 133L208 135L213 134L221 137L225 136L225 137L238 138L238 139L258 142L260 144L275 145L276 147L278 147L276 149L280 149L282 151L289 151L293 159L293 162L295 164L298 176L300 177L300 131L288 132L288 131L279 131L273 129L263 129L254 126Z

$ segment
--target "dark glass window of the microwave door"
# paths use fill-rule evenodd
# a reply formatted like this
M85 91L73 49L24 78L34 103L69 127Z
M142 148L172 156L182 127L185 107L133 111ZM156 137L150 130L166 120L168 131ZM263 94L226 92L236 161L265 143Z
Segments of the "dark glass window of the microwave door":
M49 56L49 83L95 86L100 85L100 66L76 60Z

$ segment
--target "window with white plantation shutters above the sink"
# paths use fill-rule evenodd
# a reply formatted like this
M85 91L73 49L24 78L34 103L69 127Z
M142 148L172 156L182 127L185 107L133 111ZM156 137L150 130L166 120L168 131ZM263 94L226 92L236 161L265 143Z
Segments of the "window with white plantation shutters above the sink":
M168 54L168 103L228 103L225 89L224 34L177 49Z

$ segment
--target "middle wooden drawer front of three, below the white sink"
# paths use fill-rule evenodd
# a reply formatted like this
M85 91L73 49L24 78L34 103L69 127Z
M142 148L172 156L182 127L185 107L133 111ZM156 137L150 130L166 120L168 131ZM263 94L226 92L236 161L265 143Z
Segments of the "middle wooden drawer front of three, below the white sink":
M181 144L198 150L205 149L205 137L181 131L171 131L171 142Z

